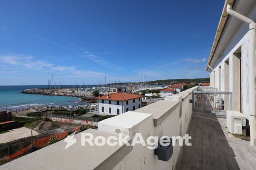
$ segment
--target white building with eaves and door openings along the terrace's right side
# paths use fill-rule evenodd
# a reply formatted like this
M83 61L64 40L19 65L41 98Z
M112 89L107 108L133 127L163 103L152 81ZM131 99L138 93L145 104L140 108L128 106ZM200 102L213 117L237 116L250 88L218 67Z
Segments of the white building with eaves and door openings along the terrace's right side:
M226 0L209 56L211 86L232 92L233 110L246 116L256 145L256 0Z

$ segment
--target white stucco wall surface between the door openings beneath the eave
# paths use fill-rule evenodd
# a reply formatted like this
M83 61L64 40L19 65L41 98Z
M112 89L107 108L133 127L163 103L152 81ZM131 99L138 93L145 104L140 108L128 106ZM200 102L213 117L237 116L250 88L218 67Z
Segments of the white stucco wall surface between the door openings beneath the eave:
M256 18L256 5L252 8L251 12L248 15L250 18L254 19ZM217 62L214 65L214 71L215 71L215 86L213 83L213 87L217 87L220 89L219 86L219 67L221 66L221 89L224 91L225 87L225 77L224 77L224 62L228 59L229 60L229 91L233 92L233 76L237 76L233 74L233 69L236 69L233 67L233 53L241 47L241 97L242 97L242 105L241 110L242 113L246 116L247 119L249 119L250 111L249 111L249 82L255 81L250 80L248 77L248 73L250 72L248 69L248 47L249 47L249 25L242 23L239 29L236 31L236 33L233 35L233 38L230 39L229 43L226 45L225 50L223 51L220 58L217 60ZM220 42L221 43L221 42ZM213 73L213 72L211 72ZM233 106L237 103L233 103Z

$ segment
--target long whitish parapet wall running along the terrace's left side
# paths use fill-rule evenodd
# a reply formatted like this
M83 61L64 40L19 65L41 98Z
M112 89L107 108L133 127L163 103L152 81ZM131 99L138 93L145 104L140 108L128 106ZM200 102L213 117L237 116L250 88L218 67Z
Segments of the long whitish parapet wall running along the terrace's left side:
M191 88L174 96L165 97L132 112L98 122L98 130L81 133L96 136L118 136L122 133L132 142L136 133L147 140L149 136L184 136L192 117ZM0 167L3 169L98 169L98 170L170 170L177 168L183 146L178 140L168 161L158 160L147 146L81 146L81 133L74 136L77 143L64 149L64 141L44 147Z

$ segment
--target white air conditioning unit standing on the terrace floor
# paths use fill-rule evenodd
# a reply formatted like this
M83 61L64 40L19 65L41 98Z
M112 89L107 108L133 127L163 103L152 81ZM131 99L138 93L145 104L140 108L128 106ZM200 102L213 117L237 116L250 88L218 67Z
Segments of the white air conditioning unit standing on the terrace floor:
M246 136L246 129L242 129L245 125L246 118L242 113L230 110L227 111L226 127L230 133Z

